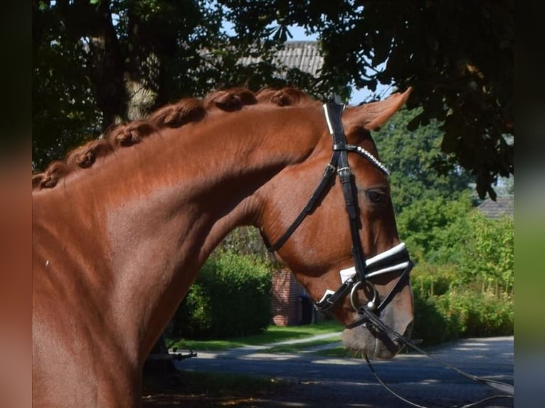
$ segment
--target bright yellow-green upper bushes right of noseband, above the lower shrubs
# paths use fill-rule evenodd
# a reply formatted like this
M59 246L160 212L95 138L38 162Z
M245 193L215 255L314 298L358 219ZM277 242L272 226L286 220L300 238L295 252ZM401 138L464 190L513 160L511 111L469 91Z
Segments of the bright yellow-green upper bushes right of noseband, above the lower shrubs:
M417 264L453 265L457 284L512 294L512 217L488 219L462 195L413 203L398 217L398 229Z

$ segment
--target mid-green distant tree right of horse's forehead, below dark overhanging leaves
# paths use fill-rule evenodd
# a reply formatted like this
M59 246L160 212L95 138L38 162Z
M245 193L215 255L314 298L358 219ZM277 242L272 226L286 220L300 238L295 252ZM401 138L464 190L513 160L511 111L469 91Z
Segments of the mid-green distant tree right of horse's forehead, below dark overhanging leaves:
M381 161L390 171L393 208L399 215L414 202L456 200L473 181L457 166L453 154L440 149L443 131L437 120L407 131L418 109L401 109L385 127L373 133Z

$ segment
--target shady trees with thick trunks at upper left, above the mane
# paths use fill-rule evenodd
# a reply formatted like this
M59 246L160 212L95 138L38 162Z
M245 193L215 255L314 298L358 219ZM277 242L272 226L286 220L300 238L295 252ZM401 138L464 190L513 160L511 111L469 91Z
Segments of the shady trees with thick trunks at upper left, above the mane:
M167 102L185 79L171 77L168 63L183 60L181 73L199 68L196 54L219 27L211 17L200 29L206 14L198 1L33 0L35 166Z

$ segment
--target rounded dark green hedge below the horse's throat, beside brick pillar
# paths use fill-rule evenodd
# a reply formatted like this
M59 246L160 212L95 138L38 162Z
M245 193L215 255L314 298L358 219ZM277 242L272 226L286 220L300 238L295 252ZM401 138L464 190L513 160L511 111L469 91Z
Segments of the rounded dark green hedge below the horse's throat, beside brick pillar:
M181 302L169 336L203 340L260 333L270 323L271 286L265 262L217 252Z

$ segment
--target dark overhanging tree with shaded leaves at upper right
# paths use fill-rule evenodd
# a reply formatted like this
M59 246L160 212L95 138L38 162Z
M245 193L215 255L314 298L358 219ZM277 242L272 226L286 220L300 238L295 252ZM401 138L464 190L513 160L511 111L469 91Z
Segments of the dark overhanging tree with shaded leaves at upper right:
M408 107L423 108L409 130L437 119L441 149L471 171L481 198L497 176L514 172L512 0L221 1L240 36L270 26L318 33L323 77L376 90L413 87ZM383 68L381 68L383 67Z

